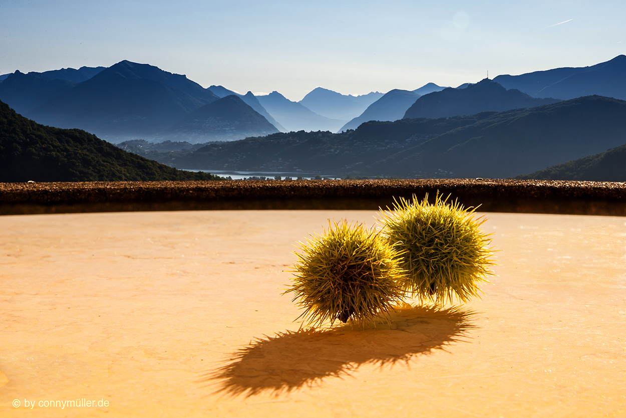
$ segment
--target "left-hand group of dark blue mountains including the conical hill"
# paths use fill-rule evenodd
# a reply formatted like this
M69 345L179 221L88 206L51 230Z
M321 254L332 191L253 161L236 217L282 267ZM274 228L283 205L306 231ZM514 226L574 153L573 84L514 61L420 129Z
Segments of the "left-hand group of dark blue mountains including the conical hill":
M250 92L237 98L240 103L220 100L184 75L130 61L109 68L16 71L0 83L0 98L38 122L83 128L111 142L133 137L207 142L279 132L242 102L271 118ZM212 103L217 104L207 107Z

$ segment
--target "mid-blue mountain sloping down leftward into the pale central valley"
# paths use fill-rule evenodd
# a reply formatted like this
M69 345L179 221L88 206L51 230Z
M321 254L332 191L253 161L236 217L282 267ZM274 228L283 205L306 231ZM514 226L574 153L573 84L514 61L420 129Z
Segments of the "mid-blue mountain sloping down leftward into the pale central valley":
M369 120L398 120L404 116L406 110L419 98L418 93L408 90L391 90L383 97L367 107L359 117L352 119L344 125L340 132L348 129L356 129L363 122Z

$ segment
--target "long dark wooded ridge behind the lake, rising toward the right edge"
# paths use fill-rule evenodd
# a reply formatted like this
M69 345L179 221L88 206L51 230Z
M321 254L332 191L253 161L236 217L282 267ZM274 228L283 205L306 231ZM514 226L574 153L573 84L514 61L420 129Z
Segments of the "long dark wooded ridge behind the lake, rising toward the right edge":
M160 161L178 167L423 178L507 178L626 144L626 102L582 97L534 108L275 133Z

